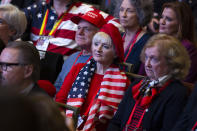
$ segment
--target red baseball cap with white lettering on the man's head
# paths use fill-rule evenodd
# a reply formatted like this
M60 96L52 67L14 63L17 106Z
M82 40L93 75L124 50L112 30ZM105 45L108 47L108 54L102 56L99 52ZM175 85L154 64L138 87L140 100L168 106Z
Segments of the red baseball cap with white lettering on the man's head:
M75 24L78 24L81 19L92 23L98 28L101 28L104 24L106 24L106 21L103 18L103 16L98 11L95 10L88 11L83 15L73 16L71 18L71 21L74 22Z

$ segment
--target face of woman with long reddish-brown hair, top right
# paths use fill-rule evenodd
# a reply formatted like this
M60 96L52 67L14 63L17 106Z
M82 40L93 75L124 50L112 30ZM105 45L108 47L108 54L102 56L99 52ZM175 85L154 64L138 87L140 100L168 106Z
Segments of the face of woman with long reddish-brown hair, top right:
M159 32L177 36L179 23L175 12L171 8L164 8L162 17L159 21Z

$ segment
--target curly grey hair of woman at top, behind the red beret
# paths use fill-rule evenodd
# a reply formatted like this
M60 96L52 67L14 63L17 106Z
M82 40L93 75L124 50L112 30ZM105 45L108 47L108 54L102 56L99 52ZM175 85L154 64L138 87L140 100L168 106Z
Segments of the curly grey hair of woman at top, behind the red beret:
M135 7L136 14L141 27L148 25L153 16L153 2L152 0L129 0L131 5ZM123 0L117 0L117 6L114 16L119 17L120 6Z

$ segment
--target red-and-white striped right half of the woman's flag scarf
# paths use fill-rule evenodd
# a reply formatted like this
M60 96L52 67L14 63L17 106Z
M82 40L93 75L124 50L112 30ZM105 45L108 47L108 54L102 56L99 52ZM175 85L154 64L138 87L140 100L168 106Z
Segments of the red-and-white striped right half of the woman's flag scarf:
M113 117L120 101L127 89L128 79L119 68L107 69L100 87L100 93L90 108L87 120L83 127L84 131L94 129L96 121L104 122Z

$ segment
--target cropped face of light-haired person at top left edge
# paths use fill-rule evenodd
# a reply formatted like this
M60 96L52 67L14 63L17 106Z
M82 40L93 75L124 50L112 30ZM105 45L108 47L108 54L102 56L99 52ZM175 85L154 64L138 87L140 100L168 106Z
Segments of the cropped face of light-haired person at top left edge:
M3 19L2 12L0 12L0 38L5 44L8 43L10 37L14 35L8 23Z

